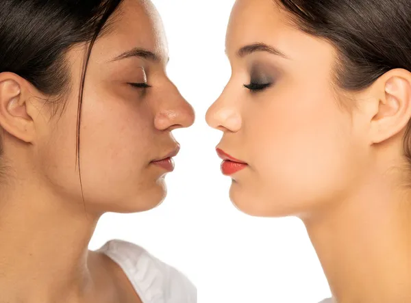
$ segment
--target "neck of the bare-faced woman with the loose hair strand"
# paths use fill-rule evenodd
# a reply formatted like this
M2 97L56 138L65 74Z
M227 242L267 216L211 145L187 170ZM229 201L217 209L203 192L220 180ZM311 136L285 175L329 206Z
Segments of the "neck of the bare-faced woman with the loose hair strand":
M44 188L1 190L0 302L82 302L94 287L88 243L98 217Z

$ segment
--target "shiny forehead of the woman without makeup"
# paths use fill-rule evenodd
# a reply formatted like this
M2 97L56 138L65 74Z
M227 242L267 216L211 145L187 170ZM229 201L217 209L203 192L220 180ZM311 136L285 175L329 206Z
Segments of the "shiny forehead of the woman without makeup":
M119 52L138 47L164 60L168 58L162 20L151 1L124 0L112 17L110 32L96 43L95 47L101 49L99 53L113 58Z

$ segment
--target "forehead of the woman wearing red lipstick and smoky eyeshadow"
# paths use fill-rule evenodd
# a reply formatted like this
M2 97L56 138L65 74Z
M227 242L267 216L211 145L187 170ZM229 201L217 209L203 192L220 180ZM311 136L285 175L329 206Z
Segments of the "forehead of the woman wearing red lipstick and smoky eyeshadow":
M227 54L234 57L241 47L263 42L285 53L295 64L307 60L325 65L332 62L332 44L304 33L290 17L277 0L237 0L227 28Z

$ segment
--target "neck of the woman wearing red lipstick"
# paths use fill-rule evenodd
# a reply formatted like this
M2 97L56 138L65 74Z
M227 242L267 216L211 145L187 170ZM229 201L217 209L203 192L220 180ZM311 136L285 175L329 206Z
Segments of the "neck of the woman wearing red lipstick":
M377 189L377 190L376 190ZM303 219L338 303L411 302L411 205L372 182Z

